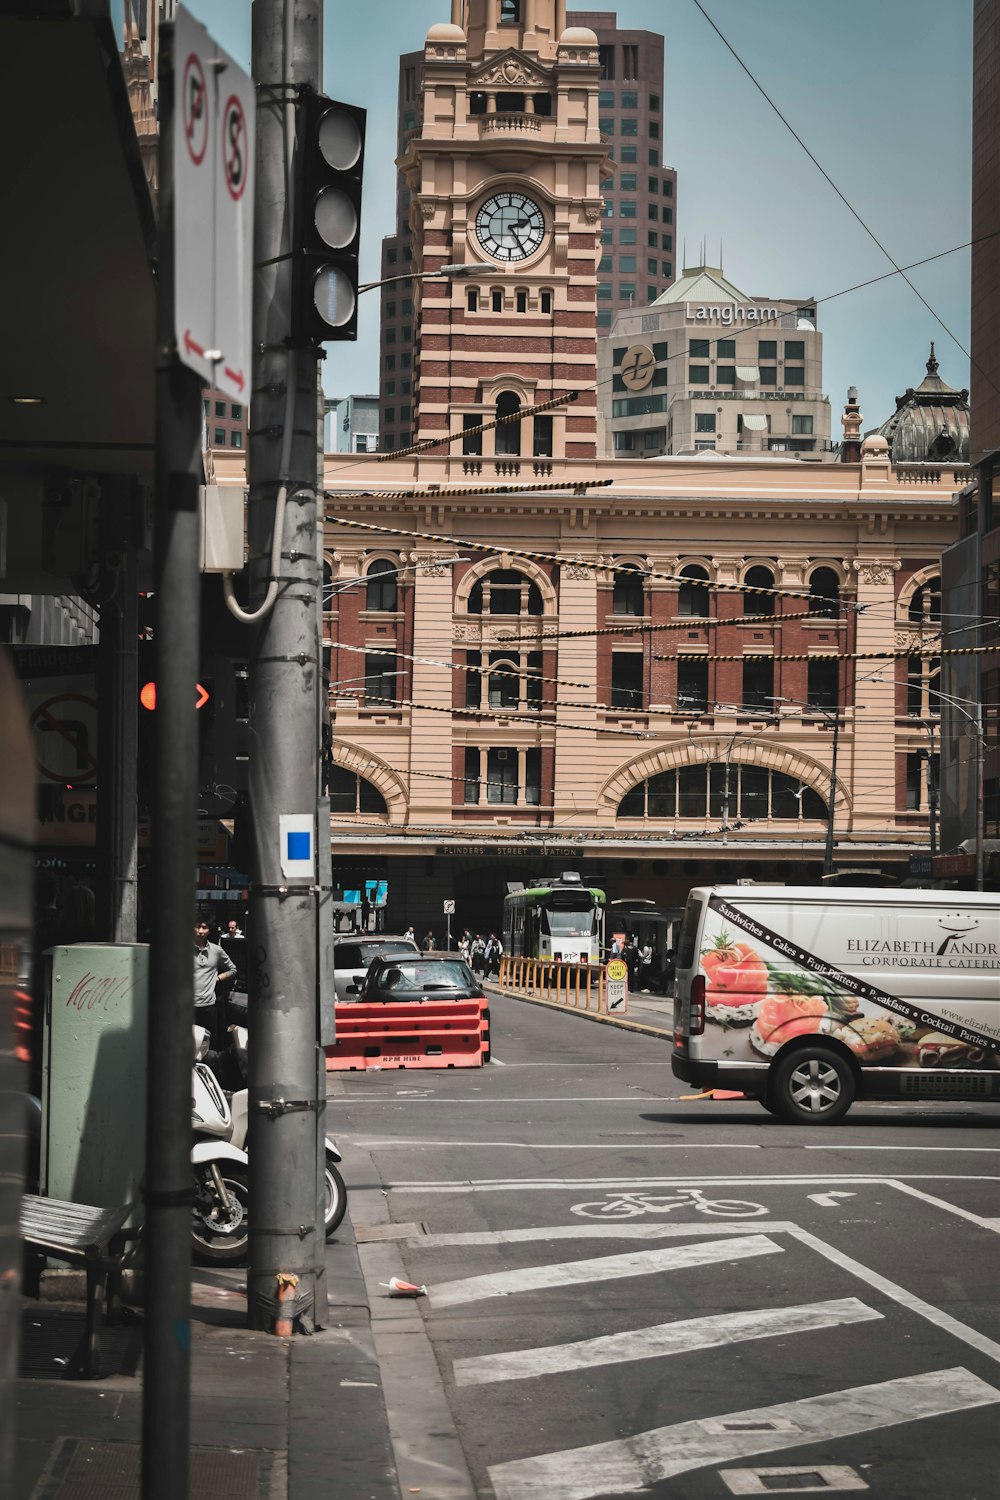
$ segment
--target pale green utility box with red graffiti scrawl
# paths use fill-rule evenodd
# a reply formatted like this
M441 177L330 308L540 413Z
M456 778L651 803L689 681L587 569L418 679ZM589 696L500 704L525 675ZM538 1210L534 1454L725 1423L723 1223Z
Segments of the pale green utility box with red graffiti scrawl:
M40 1191L115 1208L145 1170L148 946L51 948Z

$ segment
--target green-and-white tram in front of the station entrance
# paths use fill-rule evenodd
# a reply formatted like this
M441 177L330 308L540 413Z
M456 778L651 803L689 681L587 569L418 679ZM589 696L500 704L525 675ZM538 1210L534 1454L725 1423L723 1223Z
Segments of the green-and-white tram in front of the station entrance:
M604 891L565 870L549 885L510 882L504 897L504 952L555 963L600 963L604 952Z

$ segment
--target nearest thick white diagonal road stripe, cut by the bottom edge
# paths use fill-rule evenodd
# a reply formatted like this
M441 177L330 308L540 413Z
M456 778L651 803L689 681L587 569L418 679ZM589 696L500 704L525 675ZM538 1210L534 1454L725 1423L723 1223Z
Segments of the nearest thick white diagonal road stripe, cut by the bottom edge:
M805 1401L730 1412L702 1422L678 1422L612 1443L519 1458L489 1470L496 1500L594 1500L648 1494L654 1484L789 1448L829 1443L949 1412L1000 1401L1000 1390L972 1371L934 1370L871 1386L853 1386Z

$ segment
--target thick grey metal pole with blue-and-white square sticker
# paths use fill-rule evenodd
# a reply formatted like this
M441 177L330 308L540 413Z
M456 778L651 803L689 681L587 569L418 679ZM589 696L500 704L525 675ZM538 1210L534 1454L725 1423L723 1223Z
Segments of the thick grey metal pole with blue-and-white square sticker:
M258 627L250 660L252 886L250 1270L247 1317L274 1330L279 1280L297 1278L280 1322L307 1332L325 1320L316 1299L315 861L319 758L321 573L316 561L316 358L289 350L295 208L295 99L319 74L321 0L255 0L256 111L253 400L249 440L249 537L253 586L262 592L279 501L285 501L280 588ZM313 872L283 868L282 814L312 819Z

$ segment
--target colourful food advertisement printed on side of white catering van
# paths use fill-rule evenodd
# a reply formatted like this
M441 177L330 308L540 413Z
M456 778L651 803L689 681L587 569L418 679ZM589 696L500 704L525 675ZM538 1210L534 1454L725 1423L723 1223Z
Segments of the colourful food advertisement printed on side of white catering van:
M925 969L969 966L981 978L984 969L1000 975L997 944L987 930L979 936L946 928L937 933L925 916L919 936L886 939L876 928L865 936L862 921L837 942L849 951L826 957L718 894L708 906L700 974L709 1024L699 1040L702 1059L766 1064L787 1041L808 1035L843 1042L870 1066L1000 1068L1000 1005L966 1005L937 994L933 1000L903 999L865 974L874 969L883 978L886 970L919 962ZM892 951L880 956L880 944ZM901 952L901 946L913 951ZM903 964L904 958L910 964ZM954 987L936 988L948 994Z

